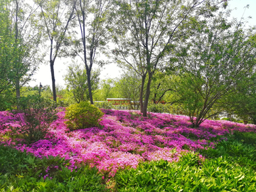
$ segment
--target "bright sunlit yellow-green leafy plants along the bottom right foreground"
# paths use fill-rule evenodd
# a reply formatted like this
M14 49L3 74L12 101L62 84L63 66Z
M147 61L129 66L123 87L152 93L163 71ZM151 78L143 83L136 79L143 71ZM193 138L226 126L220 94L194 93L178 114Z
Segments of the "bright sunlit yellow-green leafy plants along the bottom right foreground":
M223 157L206 159L201 166L196 154L181 161L151 161L137 169L118 171L117 191L255 191L255 171L235 166ZM186 160L186 161L184 161Z

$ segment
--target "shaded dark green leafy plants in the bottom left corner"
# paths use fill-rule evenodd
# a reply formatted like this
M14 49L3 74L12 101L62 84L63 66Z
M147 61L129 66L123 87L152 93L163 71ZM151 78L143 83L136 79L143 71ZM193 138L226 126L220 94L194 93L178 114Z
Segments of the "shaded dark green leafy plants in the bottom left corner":
M38 159L0 145L0 191L105 191L97 169L66 165L64 158Z

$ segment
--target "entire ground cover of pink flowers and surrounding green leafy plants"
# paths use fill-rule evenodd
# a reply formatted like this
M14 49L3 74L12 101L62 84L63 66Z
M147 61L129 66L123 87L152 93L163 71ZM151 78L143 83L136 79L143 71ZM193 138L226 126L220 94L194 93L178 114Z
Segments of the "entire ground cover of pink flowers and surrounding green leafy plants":
M102 111L98 127L70 131L59 109L32 144L1 112L0 191L256 191L254 125Z

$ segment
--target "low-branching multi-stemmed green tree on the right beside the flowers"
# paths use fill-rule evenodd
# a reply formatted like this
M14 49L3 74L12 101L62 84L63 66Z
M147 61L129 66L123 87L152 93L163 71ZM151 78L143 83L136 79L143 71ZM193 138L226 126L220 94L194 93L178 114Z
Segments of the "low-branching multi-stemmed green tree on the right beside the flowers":
M228 23L224 14L218 14L198 25L190 43L176 47L178 86L193 127L217 114L213 108L223 97L250 85L256 64L255 28L242 30L242 23Z

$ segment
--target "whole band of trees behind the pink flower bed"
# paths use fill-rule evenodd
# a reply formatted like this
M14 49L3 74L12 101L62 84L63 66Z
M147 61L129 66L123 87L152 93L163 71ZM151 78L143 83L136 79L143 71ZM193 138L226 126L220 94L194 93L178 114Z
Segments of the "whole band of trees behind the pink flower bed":
M125 97L144 116L148 110L186 114L193 127L224 112L256 124L255 28L228 20L227 4L3 0L0 110L19 110L39 95L63 107ZM55 85L60 57L73 59L66 88ZM52 90L27 85L43 63L50 65ZM100 81L99 68L108 63L124 73Z

